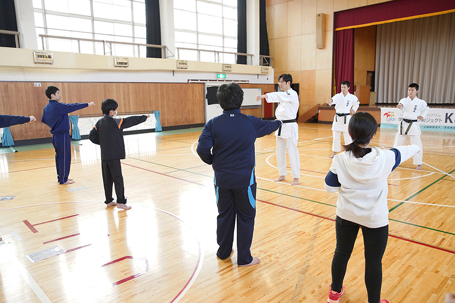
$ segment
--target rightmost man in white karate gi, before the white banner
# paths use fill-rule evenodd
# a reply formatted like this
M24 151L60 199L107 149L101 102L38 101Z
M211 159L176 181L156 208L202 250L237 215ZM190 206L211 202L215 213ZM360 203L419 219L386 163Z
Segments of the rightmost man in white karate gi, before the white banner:
M403 145L406 141L406 136L409 136L411 139L411 144L417 144L420 146L421 152L414 156L414 165L417 165L417 170L422 170L422 161L423 161L423 146L420 135L422 134L420 130L419 120L423 120L427 115L430 108L427 103L417 97L419 92L419 85L416 83L411 83L407 88L407 97L402 98L397 104L397 108L401 110L403 118L398 124L398 129L396 130L395 142L393 147Z

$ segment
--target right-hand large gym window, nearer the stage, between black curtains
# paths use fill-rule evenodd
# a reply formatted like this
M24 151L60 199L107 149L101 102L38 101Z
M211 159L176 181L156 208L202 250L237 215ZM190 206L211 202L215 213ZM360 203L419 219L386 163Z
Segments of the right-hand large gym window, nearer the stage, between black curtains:
M235 64L237 53L237 0L174 0L175 47L180 60ZM199 53L199 54L198 54Z

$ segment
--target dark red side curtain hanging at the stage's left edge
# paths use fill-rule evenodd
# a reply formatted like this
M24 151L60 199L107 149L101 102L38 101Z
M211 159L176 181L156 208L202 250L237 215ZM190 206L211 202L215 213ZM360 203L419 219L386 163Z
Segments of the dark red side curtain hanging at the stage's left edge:
M354 93L354 29L335 32L336 58L335 80L337 93L341 92L341 82L349 81L349 92Z

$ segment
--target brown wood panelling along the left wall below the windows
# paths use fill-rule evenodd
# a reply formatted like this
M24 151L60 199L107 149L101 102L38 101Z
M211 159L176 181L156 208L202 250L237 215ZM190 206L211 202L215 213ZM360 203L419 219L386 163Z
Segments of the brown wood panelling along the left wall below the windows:
M14 140L52 136L49 127L41 123L48 85L60 88L64 103L95 102L95 107L74 113L81 117L101 116L101 103L109 97L118 102L119 115L160 111L163 127L205 122L203 83L41 82L41 87L35 87L33 82L0 82L0 114L34 116L37 120L12 126Z

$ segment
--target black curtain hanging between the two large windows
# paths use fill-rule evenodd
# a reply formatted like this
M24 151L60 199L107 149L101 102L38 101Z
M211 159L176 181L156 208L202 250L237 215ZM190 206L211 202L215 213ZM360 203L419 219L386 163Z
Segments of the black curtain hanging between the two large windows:
M161 45L160 2L145 0L147 44ZM161 58L161 48L147 47L147 58Z

